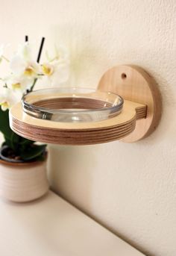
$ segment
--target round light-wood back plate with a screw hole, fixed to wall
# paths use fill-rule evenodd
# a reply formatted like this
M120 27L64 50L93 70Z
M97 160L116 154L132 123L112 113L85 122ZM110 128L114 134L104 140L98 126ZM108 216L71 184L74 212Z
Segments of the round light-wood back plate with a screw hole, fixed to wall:
M160 92L154 79L144 69L133 65L115 66L104 73L98 89L117 93L123 99L148 106L146 118L136 121L135 130L123 138L123 142L136 142L155 130L161 115Z

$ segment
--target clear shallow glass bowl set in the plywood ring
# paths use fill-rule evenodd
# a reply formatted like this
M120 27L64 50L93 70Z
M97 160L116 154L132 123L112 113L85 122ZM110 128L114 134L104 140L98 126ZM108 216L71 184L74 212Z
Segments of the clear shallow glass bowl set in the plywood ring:
M122 97L89 88L36 90L22 98L25 113L54 122L97 122L119 115Z

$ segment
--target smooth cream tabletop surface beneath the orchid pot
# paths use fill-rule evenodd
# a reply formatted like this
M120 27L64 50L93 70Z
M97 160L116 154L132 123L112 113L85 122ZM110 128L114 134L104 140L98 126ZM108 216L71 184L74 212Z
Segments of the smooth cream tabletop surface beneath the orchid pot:
M52 192L24 204L0 200L0 208L3 256L143 255Z

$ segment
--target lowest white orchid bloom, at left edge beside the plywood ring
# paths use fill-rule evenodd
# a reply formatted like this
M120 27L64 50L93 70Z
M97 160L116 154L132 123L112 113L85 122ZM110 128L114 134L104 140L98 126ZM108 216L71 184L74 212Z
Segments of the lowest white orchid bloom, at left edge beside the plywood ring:
M1 93L0 93L1 110L5 111L9 109L10 107L13 106L13 104L16 104L16 102L19 102L20 99L22 99L22 94L14 93L9 88L2 87Z

